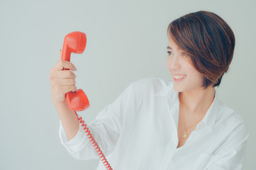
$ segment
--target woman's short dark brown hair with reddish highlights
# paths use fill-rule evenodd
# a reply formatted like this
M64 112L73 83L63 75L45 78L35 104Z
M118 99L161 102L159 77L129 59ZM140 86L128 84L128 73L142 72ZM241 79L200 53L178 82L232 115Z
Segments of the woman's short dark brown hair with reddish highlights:
M203 87L219 86L233 59L235 35L218 15L197 11L169 23L168 38L188 53L194 68L203 75Z

